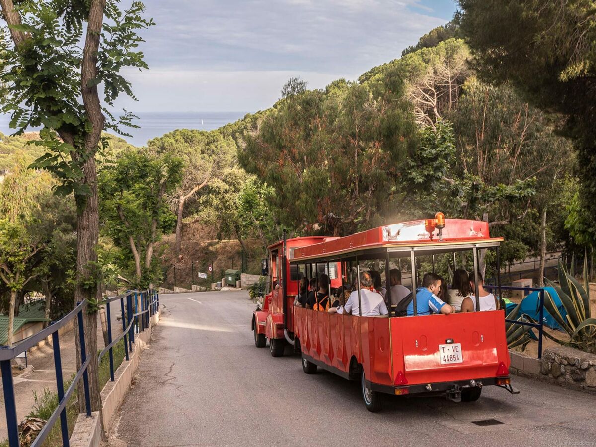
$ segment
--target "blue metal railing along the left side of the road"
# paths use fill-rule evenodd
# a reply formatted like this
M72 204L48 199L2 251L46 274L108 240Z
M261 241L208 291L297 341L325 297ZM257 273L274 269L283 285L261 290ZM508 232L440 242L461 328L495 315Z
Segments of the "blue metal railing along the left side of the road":
M135 311L133 313L132 296L135 297ZM120 312L122 316L122 333L112 340L111 335L111 310L110 303L120 301ZM126 300L126 305L125 305ZM141 304L141 311L136 312L137 304ZM98 356L98 365L101 362L101 358L106 352L110 356L110 380L114 381L114 353L113 347L116 343L123 340L125 348L126 360L129 359L129 352L132 352L134 346L134 334L143 331L149 327L151 316L159 312L159 293L155 290L131 290L123 293L119 296L114 296L105 299L100 303L105 304L105 311L107 316L107 330L108 330L108 345L100 352ZM13 347L0 346L0 368L2 370L2 385L4 392L4 402L6 410L7 428L8 428L8 443L11 447L18 447L20 445L20 439L18 434L18 419L17 419L17 407L14 395L14 381L13 371L11 367L11 361L20 353L26 352L27 349L35 346L47 337L52 337L52 347L54 350L54 366L56 372L56 386L58 391L58 406L52 412L51 417L45 423L44 428L39 432L38 436L32 443L32 447L39 446L44 442L49 432L54 427L54 424L60 417L60 426L62 434L62 443L64 446L69 446L69 429L66 418L66 405L69 401L72 393L75 391L76 386L79 384L81 378L83 379L83 389L85 393L85 409L87 416L91 416L91 393L89 392L89 374L88 367L91 361L91 355L85 349L85 331L83 328L83 311L87 307L86 300L79 303L75 309L67 313L63 318L58 321L52 322L51 325L46 327L44 330L39 331L33 336L23 340L20 343L15 344ZM79 342L81 352L81 367L77 371L75 378L69 388L64 391L64 379L62 374L62 359L60 356L60 339L58 331L64 327L72 319L77 318L79 326ZM128 322L128 325L126 324Z

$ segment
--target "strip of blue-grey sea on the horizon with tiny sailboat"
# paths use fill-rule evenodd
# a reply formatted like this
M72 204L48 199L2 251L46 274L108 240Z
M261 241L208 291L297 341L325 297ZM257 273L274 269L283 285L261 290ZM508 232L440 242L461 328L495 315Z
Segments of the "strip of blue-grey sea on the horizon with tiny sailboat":
M212 131L228 123L244 117L247 112L229 111L229 112L144 112L137 113L139 117L135 120L138 129L125 128L125 131L132 136L122 137L135 146L147 144L147 140L162 136L175 129L198 129L201 131ZM10 135L14 129L10 129L8 124L10 117L0 115L0 132ZM35 129L31 129L35 130Z

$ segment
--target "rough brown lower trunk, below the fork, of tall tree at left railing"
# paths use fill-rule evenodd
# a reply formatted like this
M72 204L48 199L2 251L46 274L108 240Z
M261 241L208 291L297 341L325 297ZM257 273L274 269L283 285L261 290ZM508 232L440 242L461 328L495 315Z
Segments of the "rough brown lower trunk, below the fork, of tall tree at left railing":
M89 149L92 150L92 149ZM101 291L99 284L91 288L83 287L84 280L94 278L97 262L97 244L99 240L99 215L98 215L98 195L97 195L97 170L94 157L89 159L83 165L84 181L91 190L91 193L85 196L84 203L79 198L79 212L77 213L77 284L75 288L76 303L90 300L99 302L101 300ZM82 208L82 209L81 209ZM97 280L97 278L95 278ZM100 380L98 375L97 361L97 312L88 313L83 311L83 328L85 334L85 352L87 358L91 358L87 369L89 374L89 391L91 393L91 411L101 410ZM80 340L79 331L75 331L77 347L77 367L80 368ZM85 393L83 381L79 381L79 412L85 412Z

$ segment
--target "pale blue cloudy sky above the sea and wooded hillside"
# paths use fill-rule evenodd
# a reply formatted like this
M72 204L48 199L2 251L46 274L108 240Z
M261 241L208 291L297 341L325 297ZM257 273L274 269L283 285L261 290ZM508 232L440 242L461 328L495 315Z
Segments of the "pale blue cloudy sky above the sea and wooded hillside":
M126 0L123 1L126 4ZM451 20L452 0L144 0L150 70L126 72L135 113L270 107L293 76L355 80Z

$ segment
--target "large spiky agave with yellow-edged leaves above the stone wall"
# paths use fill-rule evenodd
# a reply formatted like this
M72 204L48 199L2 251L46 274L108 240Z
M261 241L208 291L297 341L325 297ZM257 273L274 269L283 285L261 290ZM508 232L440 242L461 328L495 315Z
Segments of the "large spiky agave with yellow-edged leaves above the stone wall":
M567 315L563 318L554 300L546 290L544 293L544 308L561 325L563 330L569 334L571 338L569 344L579 349L596 351L596 318L592 318L590 315L587 257L583 259L582 280L583 284L576 280L573 271L569 272L567 267L559 262L558 282L547 281L557 291ZM567 344L563 340L558 340L548 333L544 334L557 343Z

